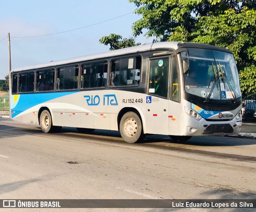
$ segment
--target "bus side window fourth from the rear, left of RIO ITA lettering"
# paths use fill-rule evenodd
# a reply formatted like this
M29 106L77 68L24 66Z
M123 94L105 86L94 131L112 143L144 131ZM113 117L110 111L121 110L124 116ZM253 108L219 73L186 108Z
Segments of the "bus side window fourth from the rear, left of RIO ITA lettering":
M78 65L57 69L57 90L76 90L78 88Z

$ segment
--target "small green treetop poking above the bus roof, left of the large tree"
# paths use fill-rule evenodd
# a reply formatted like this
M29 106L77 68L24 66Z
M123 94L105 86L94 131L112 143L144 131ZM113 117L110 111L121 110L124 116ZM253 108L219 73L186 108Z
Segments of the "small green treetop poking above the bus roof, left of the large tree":
M106 46L109 44L109 50L116 50L120 48L127 48L131 46L138 46L140 43L136 43L134 38L122 38L122 36L118 34L110 34L109 36L104 36L100 38L100 43L105 44Z

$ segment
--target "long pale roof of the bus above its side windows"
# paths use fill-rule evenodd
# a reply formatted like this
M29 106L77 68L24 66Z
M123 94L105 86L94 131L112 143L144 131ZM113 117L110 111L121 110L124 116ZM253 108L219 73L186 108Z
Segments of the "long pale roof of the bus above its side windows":
M118 49L118 50L113 50L113 51L108 51L108 52L103 52L103 53L98 53L98 54L92 54L88 56L81 56L81 57L76 57L76 58L70 58L66 60L58 60L58 61L51 61L48 63L44 64L38 64L34 66L26 66L22 68L14 68L12 72L18 72L22 70L31 70L31 69L39 69L39 68L47 68L47 67L52 67L52 66L59 66L62 64L69 64L69 63L78 63L82 62L85 60L93 60L93 59L98 59L98 58L107 58L111 56L118 56L122 54L129 54L129 53L135 53L135 52L144 52L147 50L154 50L154 49L162 49L162 48L170 48L177 50L178 48L186 46L186 47L208 47L208 48L218 48L219 50L226 50L224 48L216 47L216 46L210 46L210 45L205 45L205 44L195 44L195 43L188 43L188 42L156 42L156 43L151 43L151 44L142 44L140 46L134 46L134 47L129 47L129 48L123 48L123 49Z

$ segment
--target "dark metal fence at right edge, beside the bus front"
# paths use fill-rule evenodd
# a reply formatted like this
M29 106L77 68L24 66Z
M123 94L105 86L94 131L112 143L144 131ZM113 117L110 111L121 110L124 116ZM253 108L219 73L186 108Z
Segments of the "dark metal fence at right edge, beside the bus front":
M242 115L245 122L256 122L256 93L243 96Z

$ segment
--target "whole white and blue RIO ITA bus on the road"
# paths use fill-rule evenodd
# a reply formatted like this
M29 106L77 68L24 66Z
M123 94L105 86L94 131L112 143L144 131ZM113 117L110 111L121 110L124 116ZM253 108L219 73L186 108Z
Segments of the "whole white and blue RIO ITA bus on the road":
M242 97L232 52L188 42L158 42L11 72L11 117L43 132L120 130L145 134L238 134Z

